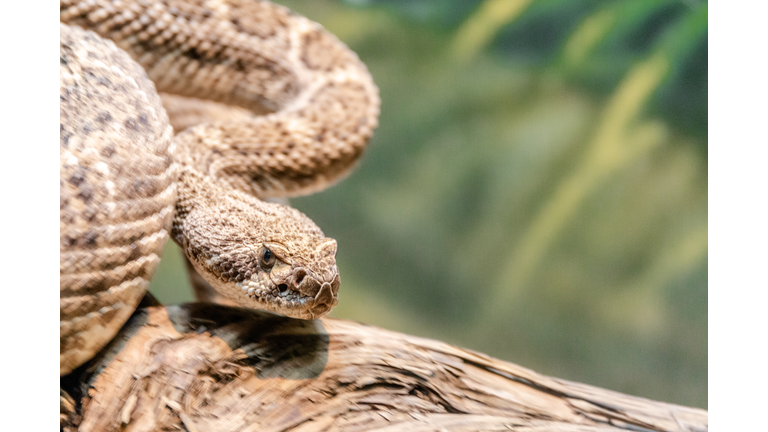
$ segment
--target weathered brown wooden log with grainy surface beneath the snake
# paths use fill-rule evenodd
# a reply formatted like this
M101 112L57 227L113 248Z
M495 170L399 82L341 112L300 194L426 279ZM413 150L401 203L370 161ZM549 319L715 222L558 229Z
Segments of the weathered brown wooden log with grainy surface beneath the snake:
M708 413L338 319L145 299L61 378L64 430L706 431Z

